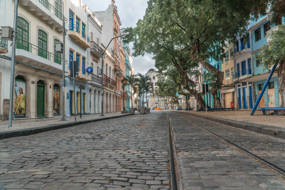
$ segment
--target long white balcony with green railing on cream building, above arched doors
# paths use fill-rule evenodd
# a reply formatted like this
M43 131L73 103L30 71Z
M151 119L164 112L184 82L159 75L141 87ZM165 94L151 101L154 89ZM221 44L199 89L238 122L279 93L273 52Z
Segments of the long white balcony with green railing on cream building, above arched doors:
M62 57L25 40L16 41L16 59L30 65L62 74ZM65 60L67 63L67 60Z

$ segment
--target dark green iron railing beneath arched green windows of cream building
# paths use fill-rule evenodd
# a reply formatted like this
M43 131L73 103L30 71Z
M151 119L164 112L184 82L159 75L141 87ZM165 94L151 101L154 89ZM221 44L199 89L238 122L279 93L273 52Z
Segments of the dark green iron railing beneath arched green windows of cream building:
M32 54L38 55L40 57L43 57L47 60L53 61L57 64L62 64L62 57L57 56L51 52L48 52L47 50L40 48L34 44L31 44L30 42L27 42L25 40L17 39L16 40L16 48L26 50L28 52L31 52ZM60 54L61 55L61 54ZM65 60L67 62L67 60Z

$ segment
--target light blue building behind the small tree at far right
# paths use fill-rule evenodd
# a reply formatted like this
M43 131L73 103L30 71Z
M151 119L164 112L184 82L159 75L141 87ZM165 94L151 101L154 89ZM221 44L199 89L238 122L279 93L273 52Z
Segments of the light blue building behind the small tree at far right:
M257 99L260 94L262 87L266 79L268 78L269 71L264 69L264 66L261 64L259 60L257 60L257 55L259 54L262 46L270 42L270 38L266 36L270 32L277 30L278 25L271 23L272 14L269 14L260 17L257 21L251 21L250 37L251 37L251 63L253 69L253 76L247 79L241 80L242 83L254 83L253 93L255 94L255 99ZM283 22L282 22L283 20ZM284 23L284 18L280 18L278 24ZM258 105L258 107L279 107L280 95L278 92L278 78L277 72L274 72L272 78L269 81L268 86L262 96L262 99ZM253 97L254 98L254 97ZM250 100L251 101L251 100ZM240 104L242 104L240 102ZM252 108L252 103L250 103L250 108Z

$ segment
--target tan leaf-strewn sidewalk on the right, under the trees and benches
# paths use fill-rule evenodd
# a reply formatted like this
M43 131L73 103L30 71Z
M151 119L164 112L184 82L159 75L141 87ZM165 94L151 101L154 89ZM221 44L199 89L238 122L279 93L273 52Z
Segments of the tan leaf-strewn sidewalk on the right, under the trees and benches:
M193 110L193 111L178 111L178 112L188 112L192 114L206 115L206 111L196 112L195 110ZM251 110L207 111L207 116L285 128L285 116L262 115L262 111L255 111L254 115L250 115L250 113Z

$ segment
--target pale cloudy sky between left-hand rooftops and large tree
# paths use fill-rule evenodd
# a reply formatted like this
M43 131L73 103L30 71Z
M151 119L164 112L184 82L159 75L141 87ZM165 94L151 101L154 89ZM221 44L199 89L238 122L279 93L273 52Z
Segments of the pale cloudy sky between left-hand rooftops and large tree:
M147 1L148 0L115 0L115 5L117 5L118 8L118 15L122 23L121 28L135 27L137 21L143 19ZM111 0L82 0L82 3L87 5L92 11L105 11L111 4ZM129 47L133 52L132 43L129 44ZM152 57L153 56L150 54L145 54L143 57L133 56L135 73L146 73L150 68L155 68Z

